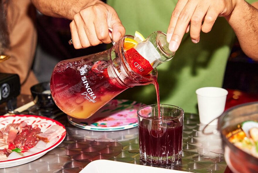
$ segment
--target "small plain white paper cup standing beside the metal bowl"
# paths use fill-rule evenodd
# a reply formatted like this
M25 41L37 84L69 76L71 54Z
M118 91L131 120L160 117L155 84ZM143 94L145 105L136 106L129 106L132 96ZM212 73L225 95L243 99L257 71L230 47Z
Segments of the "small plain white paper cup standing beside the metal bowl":
M218 120L214 119L224 112L228 91L218 87L203 87L197 89L196 94L200 122L217 125Z

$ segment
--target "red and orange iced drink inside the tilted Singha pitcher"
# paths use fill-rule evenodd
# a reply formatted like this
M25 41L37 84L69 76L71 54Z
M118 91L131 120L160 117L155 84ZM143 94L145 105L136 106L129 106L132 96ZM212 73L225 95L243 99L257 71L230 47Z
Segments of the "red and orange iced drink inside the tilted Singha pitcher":
M86 64L82 74L82 67ZM111 78L108 62L62 61L55 67L50 89L56 105L75 118L85 119L93 115L107 101L127 89Z

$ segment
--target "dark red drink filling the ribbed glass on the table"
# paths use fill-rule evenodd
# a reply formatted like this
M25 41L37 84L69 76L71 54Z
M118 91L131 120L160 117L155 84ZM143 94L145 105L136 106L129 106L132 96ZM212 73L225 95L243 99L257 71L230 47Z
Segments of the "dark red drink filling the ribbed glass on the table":
M158 117L149 118L158 120ZM166 118L171 117L163 117L162 119ZM157 121L157 124L152 121L150 127L146 121L149 120L143 119L138 126L141 157L145 158L147 162L159 164L175 162L180 159L183 125L178 120L167 120L170 121L166 123L167 127L159 125L159 121Z

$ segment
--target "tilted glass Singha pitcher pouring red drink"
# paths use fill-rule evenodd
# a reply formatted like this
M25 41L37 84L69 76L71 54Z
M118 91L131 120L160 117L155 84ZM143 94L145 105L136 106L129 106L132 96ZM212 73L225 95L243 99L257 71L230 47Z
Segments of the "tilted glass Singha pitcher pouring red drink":
M119 93L136 85L153 83L157 70L141 76L124 55L125 35L111 49L59 62L52 73L50 90L55 104L74 118L85 119Z

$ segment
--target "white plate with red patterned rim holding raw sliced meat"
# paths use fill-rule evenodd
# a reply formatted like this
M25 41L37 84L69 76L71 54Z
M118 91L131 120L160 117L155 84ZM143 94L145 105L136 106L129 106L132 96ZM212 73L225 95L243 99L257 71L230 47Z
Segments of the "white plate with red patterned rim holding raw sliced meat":
M32 127L38 126L41 129L41 132L45 132L52 125L60 125L65 129L64 125L62 125L58 121L55 121L50 118L46 118L42 116L34 116L34 115L0 116L0 129L6 127L8 124L20 123L22 121L25 121L28 125L32 125ZM46 148L41 152L37 152L32 155L21 157L18 159L0 161L0 168L18 166L38 159L39 157L45 155L48 151L54 149L60 143L62 143L62 141L65 139L65 135L66 135L66 131L57 137L56 142L52 146Z

